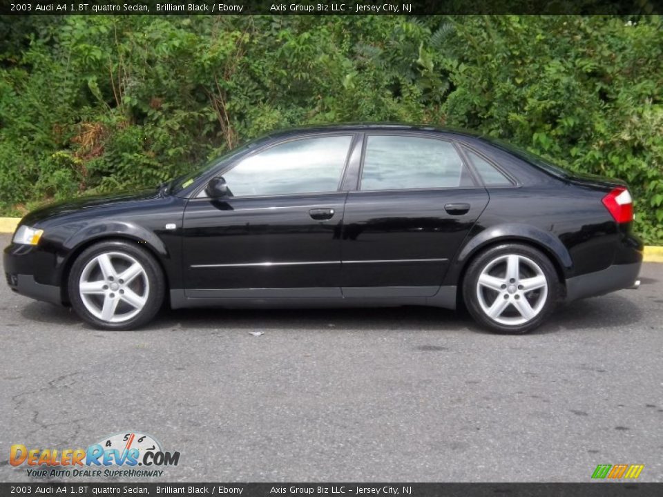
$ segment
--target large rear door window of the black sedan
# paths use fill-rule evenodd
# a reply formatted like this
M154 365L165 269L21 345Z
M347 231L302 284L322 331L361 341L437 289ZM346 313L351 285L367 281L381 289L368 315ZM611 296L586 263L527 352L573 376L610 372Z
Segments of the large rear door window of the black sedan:
M457 188L471 185L451 142L409 136L369 136L361 190Z

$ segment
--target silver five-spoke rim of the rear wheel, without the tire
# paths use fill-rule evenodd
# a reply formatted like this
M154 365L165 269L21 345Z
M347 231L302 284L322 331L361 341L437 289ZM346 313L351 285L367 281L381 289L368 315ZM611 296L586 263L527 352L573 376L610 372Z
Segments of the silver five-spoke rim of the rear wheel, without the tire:
M499 255L477 279L477 301L499 324L514 326L536 318L548 299L548 279L539 264L525 255Z

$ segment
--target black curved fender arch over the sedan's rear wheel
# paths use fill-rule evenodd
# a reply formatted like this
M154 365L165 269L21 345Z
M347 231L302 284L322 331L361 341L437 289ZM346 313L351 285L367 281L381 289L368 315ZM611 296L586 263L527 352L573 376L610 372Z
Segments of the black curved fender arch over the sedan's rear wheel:
M463 265L472 255L483 249L483 247L501 240L534 243L541 246L546 252L557 259L557 263L564 269L565 276L573 269L573 260L566 246L558 237L548 231L543 231L528 224L507 223L486 228L463 246L457 257L457 264Z

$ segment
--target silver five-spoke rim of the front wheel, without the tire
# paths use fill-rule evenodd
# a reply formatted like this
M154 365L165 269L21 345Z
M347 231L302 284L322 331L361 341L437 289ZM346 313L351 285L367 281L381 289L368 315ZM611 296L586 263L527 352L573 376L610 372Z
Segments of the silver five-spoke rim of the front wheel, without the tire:
M131 320L148 302L150 283L145 268L123 252L104 252L84 266L78 285L86 309L99 320Z

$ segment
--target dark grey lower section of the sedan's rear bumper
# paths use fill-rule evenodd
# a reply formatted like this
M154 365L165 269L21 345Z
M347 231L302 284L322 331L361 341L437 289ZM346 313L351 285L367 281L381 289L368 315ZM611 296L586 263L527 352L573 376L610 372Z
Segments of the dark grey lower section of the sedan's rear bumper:
M615 264L602 271L571 277L566 280L566 300L595 297L627 289L635 284L641 265L642 262Z

